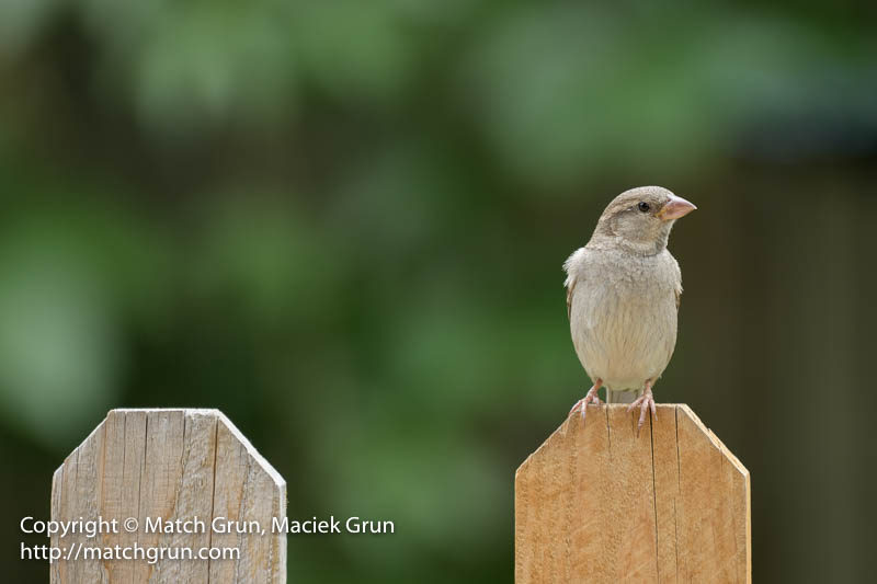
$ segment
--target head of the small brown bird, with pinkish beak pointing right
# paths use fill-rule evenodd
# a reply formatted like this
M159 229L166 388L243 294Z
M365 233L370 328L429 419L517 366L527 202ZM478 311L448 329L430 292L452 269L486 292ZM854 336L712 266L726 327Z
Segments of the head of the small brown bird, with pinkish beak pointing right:
M651 255L667 247L675 220L696 208L660 186L631 188L610 203L600 216L594 238Z

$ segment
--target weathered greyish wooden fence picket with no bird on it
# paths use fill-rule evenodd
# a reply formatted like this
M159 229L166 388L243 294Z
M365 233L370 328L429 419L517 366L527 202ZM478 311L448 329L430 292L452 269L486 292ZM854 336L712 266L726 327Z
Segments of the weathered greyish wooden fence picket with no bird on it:
M285 583L286 535L272 528L285 516L286 482L218 410L113 410L55 472L52 519L80 531L89 520L116 523L92 537L55 534L64 556L50 581ZM230 533L214 524L220 517L232 522ZM157 519L163 533L148 533ZM249 522L264 533L239 534L255 530ZM144 556L114 556L125 549ZM183 549L206 549L207 559L180 559Z

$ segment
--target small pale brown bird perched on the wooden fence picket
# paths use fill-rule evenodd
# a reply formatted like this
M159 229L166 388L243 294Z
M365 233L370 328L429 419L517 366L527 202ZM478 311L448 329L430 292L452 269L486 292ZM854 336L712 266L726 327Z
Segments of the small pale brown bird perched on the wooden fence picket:
M670 230L694 205L660 186L625 191L610 203L584 248L563 263L567 316L572 344L593 381L581 405L600 404L597 390L642 393L628 406L640 409L639 428L651 410L652 387L676 344L682 273L667 249Z

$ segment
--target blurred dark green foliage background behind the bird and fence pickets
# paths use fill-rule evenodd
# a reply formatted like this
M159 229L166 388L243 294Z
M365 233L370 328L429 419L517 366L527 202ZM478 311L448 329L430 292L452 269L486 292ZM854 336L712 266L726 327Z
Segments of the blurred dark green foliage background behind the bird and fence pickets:
M560 264L660 184L698 210L658 400L752 473L755 581L868 580L875 12L786 4L1 0L7 577L109 409L190 405L291 517L396 522L291 582L511 581L588 387Z

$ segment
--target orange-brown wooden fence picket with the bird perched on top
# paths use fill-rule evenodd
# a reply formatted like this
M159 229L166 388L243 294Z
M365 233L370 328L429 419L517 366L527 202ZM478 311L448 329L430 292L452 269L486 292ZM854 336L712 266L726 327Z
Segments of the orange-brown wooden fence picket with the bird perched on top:
M684 404L570 415L515 474L515 582L740 582L749 471Z

